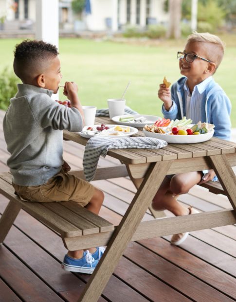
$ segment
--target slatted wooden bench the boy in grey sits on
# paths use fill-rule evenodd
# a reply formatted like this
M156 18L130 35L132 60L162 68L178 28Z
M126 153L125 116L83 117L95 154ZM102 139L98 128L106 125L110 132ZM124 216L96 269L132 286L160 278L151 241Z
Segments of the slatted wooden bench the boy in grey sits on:
M91 237L94 234L114 230L113 224L109 221L73 201L39 203L21 200L14 194L11 178L10 173L0 174L0 193L10 200L0 219L0 243L4 241L20 209L59 233L65 247L69 250L73 250L72 240L76 241L80 236L86 237L84 248L90 248Z

